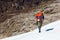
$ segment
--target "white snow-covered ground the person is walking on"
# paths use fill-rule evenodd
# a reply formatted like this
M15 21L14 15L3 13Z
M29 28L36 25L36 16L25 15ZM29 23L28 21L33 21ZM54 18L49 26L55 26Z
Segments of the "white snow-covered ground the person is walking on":
M53 28L52 30L46 31L47 29ZM38 28L34 31L16 35L0 40L60 40L60 20L47 24L42 27L41 33L38 32Z

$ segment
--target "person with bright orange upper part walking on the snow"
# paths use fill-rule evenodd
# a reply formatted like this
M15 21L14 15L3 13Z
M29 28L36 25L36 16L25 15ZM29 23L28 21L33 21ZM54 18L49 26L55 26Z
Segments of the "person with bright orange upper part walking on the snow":
M35 14L35 16L36 16L36 19L37 19L37 25L38 25L39 32L41 32L41 26L42 26L43 21L44 21L43 12L40 11L37 14Z

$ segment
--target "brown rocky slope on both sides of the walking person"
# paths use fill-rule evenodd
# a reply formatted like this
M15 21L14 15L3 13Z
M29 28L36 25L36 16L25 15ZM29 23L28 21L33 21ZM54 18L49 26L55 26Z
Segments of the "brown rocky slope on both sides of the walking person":
M59 4L59 2L54 2L44 7L45 20L43 25L60 20ZM40 9L35 10L35 12L37 11L40 11ZM29 13L18 13L19 15L14 15L12 18L0 23L0 38L22 34L37 28L37 25L35 25L35 12L32 10Z

